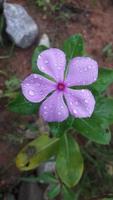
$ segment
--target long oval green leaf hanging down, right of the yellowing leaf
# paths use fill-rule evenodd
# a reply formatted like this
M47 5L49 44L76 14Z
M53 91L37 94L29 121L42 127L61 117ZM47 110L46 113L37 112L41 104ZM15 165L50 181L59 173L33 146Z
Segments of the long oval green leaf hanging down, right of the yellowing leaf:
M69 134L60 139L56 168L60 179L68 187L75 186L82 176L83 158L78 144Z

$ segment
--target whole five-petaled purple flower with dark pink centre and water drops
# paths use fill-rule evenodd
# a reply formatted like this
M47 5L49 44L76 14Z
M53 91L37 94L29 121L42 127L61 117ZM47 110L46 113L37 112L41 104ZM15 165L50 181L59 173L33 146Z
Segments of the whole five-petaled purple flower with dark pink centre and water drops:
M66 67L63 51L50 48L37 60L40 71L52 77L49 80L38 74L29 75L21 84L23 95L30 102L42 102L40 115L48 122L61 122L69 112L75 118L90 117L95 99L88 89L72 89L72 86L89 85L96 81L98 64L89 57L73 58ZM67 75L66 75L67 74Z

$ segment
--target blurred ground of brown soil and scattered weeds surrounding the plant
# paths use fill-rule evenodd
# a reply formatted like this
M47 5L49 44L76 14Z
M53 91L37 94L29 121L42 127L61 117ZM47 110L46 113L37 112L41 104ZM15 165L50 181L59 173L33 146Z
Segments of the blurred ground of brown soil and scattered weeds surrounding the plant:
M97 60L100 67L113 68L113 1L8 1L23 6L38 26L37 37L27 48L15 45L7 34L2 3L0 1L0 198L25 200L25 196L19 197L20 192L27 190L20 190L19 178L24 175L16 169L14 159L21 147L37 136L37 128L40 131L47 127L37 116L24 117L9 112L8 101L15 96L21 80L31 73L31 57L43 34L47 34L52 47L61 47L66 38L81 33L86 52ZM112 87L109 93L113 95ZM87 152L84 155L83 181L75 189L77 199L105 199L107 196L106 200L112 200L113 145L101 147L91 144ZM36 174L36 171L30 173ZM37 198L40 199L42 197ZM35 200L35 197L29 195L28 200Z

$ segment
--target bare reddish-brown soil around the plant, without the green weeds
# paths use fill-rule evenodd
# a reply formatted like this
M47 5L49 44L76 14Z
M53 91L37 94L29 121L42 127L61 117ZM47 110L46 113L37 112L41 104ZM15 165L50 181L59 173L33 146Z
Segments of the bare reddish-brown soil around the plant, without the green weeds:
M60 47L61 43L68 36L81 33L85 39L86 50L99 63L100 66L113 67L112 61L102 55L103 47L109 42L113 42L113 1L112 0L73 0L65 1L75 8L71 12L69 20L58 20L58 15L46 15L40 11L35 1L32 0L11 0L11 3L20 3L40 26L40 35L47 33L51 39L53 47ZM75 12L76 11L76 12ZM8 76L16 75L23 79L31 72L31 56L38 44L28 49L15 47L13 55L9 59L0 60L0 70L5 71ZM9 47L6 47L9 49ZM0 49L0 56L4 55L7 49ZM6 77L0 76L0 89L4 88ZM28 117L19 117L6 110L4 100L0 100L0 169L6 169L14 160L20 145L14 145L4 140L4 135L15 133L24 121L28 122ZM1 176L0 187L6 182L12 183L12 177L18 174L14 166L5 170L5 176ZM8 177L8 179L7 179ZM8 181L7 181L8 180Z

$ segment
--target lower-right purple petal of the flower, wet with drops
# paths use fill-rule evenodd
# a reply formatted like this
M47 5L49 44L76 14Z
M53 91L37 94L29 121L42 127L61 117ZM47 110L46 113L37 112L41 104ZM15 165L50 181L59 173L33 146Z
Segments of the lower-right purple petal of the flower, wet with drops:
M89 90L67 89L64 94L70 113L76 118L90 117L94 111L95 99Z

